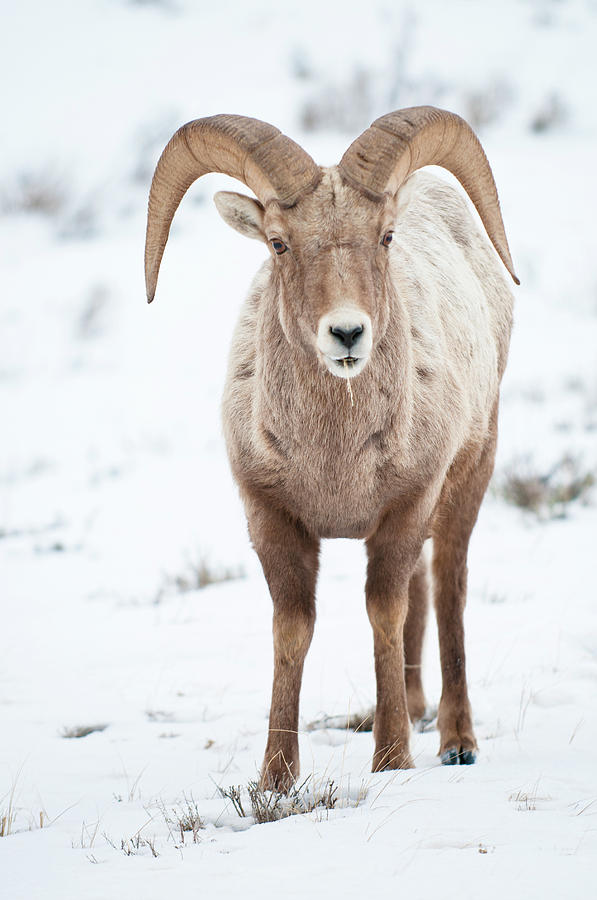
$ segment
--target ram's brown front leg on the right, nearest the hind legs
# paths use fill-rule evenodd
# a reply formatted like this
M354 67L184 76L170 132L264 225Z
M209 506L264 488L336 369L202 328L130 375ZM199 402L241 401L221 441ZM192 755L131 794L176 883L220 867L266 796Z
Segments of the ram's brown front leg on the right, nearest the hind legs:
M367 541L367 613L373 628L377 705L373 771L408 769L410 719L404 680L404 623L408 589L423 539L404 534L411 518L389 513Z

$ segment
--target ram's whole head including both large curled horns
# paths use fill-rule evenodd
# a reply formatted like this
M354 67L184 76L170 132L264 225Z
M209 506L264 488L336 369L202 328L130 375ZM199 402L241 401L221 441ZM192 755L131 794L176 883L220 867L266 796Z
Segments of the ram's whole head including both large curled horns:
M208 172L231 175L257 199L221 191L216 206L232 228L269 247L286 338L334 375L358 375L387 323L385 273L399 191L426 165L458 178L518 283L479 141L459 116L424 106L377 119L330 169L256 119L220 115L184 125L151 186L147 299L153 300L170 224L187 189Z

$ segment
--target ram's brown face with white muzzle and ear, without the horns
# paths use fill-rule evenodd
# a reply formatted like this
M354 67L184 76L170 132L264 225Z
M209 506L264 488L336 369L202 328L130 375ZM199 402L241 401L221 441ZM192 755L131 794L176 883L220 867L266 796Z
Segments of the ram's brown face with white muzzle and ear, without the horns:
M267 243L289 343L333 375L362 372L387 326L394 201L367 200L333 168L291 209L227 193L216 205L229 225Z

